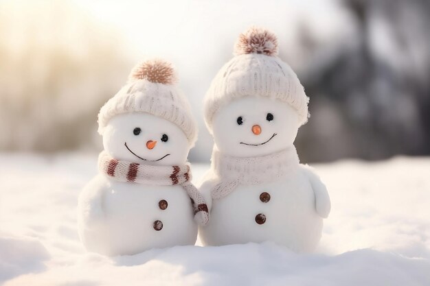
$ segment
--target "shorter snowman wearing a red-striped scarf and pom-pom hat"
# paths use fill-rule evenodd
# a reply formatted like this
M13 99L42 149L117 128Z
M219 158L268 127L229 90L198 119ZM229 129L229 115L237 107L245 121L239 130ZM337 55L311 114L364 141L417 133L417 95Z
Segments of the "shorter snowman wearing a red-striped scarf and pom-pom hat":
M87 250L124 255L194 245L196 223L207 224L207 206L191 184L187 162L196 123L175 82L169 62L147 60L100 109L99 174L78 202Z

